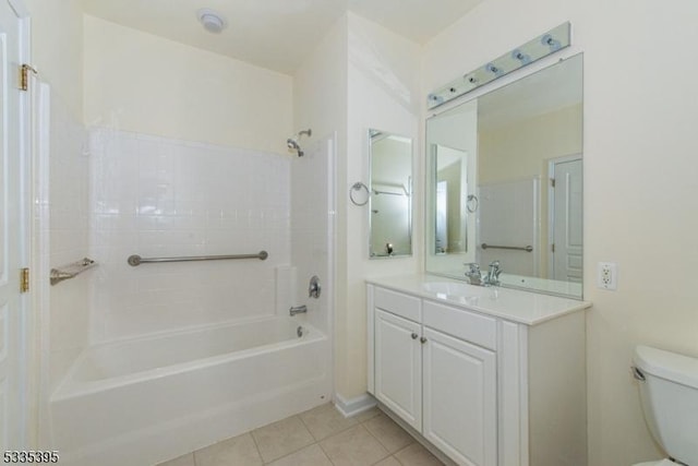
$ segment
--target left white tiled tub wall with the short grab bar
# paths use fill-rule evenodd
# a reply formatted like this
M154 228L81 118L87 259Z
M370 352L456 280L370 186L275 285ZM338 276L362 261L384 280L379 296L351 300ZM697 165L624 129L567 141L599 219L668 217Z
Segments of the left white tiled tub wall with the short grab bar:
M46 348L47 383L55 386L73 359L88 344L88 279L85 275L49 286L51 267L79 261L88 251L88 172L86 132L68 105L49 87L37 89L40 115L37 141L36 231L41 253L41 327Z

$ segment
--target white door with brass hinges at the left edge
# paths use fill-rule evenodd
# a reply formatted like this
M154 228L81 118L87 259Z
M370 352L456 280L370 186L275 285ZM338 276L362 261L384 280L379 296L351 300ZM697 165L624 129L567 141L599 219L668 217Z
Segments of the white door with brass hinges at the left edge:
M21 124L19 67L21 24L0 0L0 451L24 447L24 337L20 271L24 253L22 176L25 145Z

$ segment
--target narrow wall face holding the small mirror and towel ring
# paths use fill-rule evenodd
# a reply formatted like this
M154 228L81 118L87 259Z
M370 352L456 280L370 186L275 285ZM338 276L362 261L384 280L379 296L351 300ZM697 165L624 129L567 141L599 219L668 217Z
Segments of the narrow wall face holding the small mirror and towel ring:
M420 128L420 47L384 27L354 14L348 14L348 121L347 172L338 181L339 199L348 199L356 181L369 182L368 130L387 131L422 145ZM422 258L422 164L414 164L414 228L412 256L369 260L369 206L347 205L347 299L337 306L346 338L338 350L337 392L346 399L365 392L366 322L365 277L417 272Z

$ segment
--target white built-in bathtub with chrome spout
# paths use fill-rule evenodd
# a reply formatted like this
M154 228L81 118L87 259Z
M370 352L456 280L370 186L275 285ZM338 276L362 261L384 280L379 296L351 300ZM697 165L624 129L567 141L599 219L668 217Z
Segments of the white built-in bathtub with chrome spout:
M332 347L300 322L269 318L88 348L50 401L61 464L153 465L326 403Z

